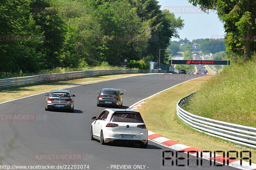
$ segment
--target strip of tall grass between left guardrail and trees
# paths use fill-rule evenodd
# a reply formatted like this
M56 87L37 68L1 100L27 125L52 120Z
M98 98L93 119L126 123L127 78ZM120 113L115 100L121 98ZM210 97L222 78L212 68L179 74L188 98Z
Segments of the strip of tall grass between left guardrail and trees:
M37 73L23 73L22 70L20 70L19 73L0 72L0 79L7 79L12 77L26 77L26 76L39 75L39 74L53 74L53 73L66 73L66 72L72 72L72 71L104 70L104 69L124 69L124 67L118 67L118 66L95 66L95 67L78 67L78 68L55 67L52 69L41 70Z

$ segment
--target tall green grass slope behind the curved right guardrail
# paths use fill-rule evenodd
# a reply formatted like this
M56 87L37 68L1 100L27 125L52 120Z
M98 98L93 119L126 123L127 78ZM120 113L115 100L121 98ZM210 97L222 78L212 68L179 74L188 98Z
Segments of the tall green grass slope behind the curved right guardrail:
M224 122L256 127L256 60L220 74L191 98L185 110Z

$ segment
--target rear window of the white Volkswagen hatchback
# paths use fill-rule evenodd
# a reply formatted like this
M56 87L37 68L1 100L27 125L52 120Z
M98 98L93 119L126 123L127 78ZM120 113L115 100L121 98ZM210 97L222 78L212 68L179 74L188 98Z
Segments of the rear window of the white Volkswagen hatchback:
M139 113L113 113L112 122L144 123Z

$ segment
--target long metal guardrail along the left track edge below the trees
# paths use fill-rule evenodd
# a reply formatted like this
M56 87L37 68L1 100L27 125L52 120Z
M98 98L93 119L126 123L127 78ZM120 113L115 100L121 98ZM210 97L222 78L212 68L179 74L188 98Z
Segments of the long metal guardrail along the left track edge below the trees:
M88 71L75 71L68 73L55 73L55 74L41 74L27 77L17 77L0 79L0 88L25 85L31 83L39 83L45 81L56 80L71 80L80 79L95 75L109 75L109 74L132 74L132 73L149 73L150 70L138 70L138 69L108 69L108 70L88 70Z

